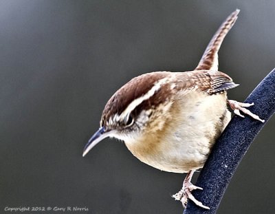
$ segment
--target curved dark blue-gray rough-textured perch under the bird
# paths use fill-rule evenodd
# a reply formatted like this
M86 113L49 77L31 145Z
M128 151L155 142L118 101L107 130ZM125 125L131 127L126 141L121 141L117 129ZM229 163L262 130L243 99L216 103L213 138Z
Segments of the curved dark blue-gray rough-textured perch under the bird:
M263 128L267 120L275 111L275 69L245 100L245 103L255 103L250 110L263 118L265 122L254 120L249 116L241 118L234 116L228 127L221 134L214 145L212 152L197 179L196 186L201 186L203 191L195 190L193 195L202 204L209 206L210 210L196 206L188 201L184 214L212 214L216 213L236 167L248 151L254 138Z

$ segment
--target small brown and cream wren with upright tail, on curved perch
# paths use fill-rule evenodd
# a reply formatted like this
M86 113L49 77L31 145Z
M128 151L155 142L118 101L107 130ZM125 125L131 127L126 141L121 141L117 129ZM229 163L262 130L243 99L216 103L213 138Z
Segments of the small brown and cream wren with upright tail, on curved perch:
M208 44L199 65L190 72L151 72L133 78L108 101L100 129L85 146L83 156L107 137L124 140L142 162L157 169L187 173L181 191L173 195L185 206L192 196L192 174L203 167L214 142L234 113L252 116L245 107L254 103L228 100L227 90L236 87L232 78L218 71L218 51L239 10L230 14Z

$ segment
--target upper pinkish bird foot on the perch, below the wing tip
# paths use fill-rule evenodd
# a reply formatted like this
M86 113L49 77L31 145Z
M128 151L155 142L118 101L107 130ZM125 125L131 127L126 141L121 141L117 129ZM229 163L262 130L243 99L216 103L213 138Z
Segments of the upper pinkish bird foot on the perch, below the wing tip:
M265 122L265 120L262 120L261 118L259 118L258 115L253 114L250 110L245 109L245 107L250 107L252 105L254 105L254 103L239 103L235 100L228 100L228 104L230 105L231 109L234 111L234 114L241 116L242 118L244 118L245 116L243 116L240 111L242 111L244 114L247 114L249 116L251 116L252 118L254 118L255 120L259 120L261 122Z

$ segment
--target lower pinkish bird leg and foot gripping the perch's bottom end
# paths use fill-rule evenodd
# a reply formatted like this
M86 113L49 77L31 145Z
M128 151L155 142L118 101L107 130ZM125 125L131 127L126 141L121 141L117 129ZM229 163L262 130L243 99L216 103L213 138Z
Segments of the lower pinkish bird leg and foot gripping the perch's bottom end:
M191 191L193 189L201 189L199 186L195 186L191 183L192 175L194 174L195 170L188 171L186 178L184 179L184 184L182 185L181 190L178 193L175 193L175 195L172 195L172 197L175 198L175 200L181 201L184 208L186 208L187 200L188 198L192 200L197 206L200 206L202 208L210 209L208 206L204 206L201 202L199 202L195 197L192 195Z

